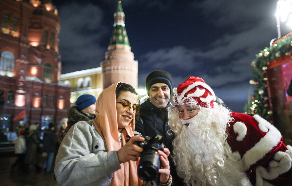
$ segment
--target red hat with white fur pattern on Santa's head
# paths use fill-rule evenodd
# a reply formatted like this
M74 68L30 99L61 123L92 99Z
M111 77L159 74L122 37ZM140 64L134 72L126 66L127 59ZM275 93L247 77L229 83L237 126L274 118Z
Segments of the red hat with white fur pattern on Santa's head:
M173 89L175 105L182 104L183 98L191 97L201 107L214 108L216 96L212 88L200 77L189 77ZM186 104L186 103L183 103Z

